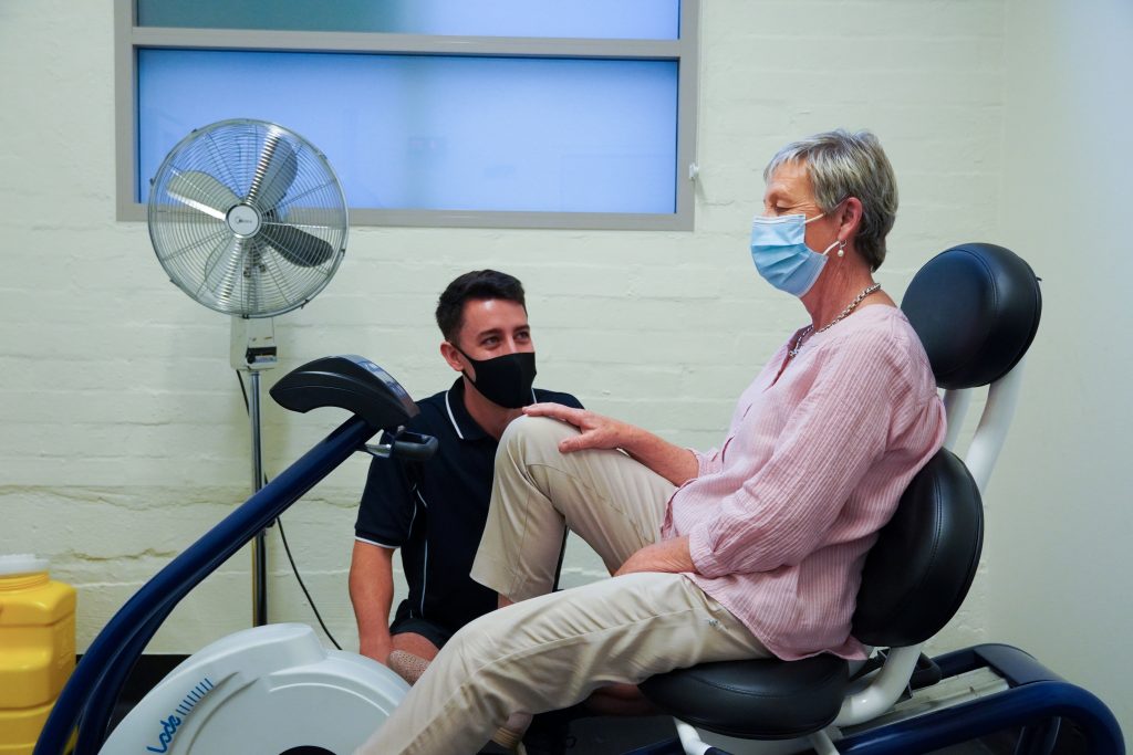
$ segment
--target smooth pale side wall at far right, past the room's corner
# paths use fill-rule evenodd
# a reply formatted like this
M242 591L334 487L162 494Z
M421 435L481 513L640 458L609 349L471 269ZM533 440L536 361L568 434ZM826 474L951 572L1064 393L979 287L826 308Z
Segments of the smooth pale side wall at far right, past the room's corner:
M1002 238L1042 277L1043 319L991 484L987 624L1133 741L1133 5L1011 0L1006 28Z

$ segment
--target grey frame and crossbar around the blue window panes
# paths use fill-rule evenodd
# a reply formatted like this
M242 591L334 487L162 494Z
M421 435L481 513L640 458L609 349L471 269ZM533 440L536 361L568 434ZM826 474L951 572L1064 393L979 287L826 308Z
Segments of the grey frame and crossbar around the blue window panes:
M678 40L442 36L376 32L206 29L137 25L135 0L114 0L116 200L119 221L144 221L134 199L140 49L331 52L400 55L662 60L678 66L674 213L377 209L351 207L352 225L691 231L693 229L700 0L681 0ZM201 126L206 126L202 123ZM287 126L282 123L281 126Z

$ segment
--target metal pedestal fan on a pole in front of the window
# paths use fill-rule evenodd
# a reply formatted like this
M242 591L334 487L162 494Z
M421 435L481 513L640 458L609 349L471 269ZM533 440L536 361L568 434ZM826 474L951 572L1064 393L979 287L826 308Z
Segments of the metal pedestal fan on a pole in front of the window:
M232 317L233 369L250 375L253 491L263 486L259 374L275 366L276 315L330 282L347 241L347 206L326 157L265 121L224 120L169 153L150 188L150 238L165 273ZM253 543L253 621L267 620L264 533Z

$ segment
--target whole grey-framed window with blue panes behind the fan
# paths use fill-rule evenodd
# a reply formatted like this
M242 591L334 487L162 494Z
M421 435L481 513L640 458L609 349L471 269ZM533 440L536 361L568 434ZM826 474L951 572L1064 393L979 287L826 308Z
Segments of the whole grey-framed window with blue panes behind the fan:
M117 1L123 220L189 131L255 118L355 223L692 228L697 0Z

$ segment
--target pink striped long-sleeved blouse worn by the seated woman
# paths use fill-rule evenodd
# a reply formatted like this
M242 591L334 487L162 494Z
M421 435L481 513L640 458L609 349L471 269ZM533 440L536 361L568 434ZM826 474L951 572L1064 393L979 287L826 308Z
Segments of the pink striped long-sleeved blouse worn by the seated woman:
M896 307L811 334L784 366L792 343L744 391L721 447L693 452L699 473L670 499L662 538L689 537L687 576L778 658L860 659L866 552L944 443L944 405Z

